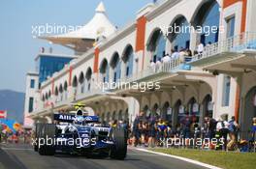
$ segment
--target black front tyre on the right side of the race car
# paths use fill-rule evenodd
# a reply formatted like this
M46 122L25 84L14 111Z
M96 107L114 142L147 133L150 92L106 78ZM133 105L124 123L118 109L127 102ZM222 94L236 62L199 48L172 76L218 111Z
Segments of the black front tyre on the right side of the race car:
M114 146L111 149L110 156L113 159L124 159L127 154L127 134L123 128L112 129L112 140Z

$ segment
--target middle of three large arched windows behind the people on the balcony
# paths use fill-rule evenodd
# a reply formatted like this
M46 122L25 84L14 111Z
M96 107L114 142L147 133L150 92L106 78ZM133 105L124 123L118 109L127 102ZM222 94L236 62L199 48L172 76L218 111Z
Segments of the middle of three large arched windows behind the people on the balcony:
M187 19L182 15L178 16L171 25L171 28L172 30L170 30L168 39L172 42L173 49L176 51L180 49L189 49L190 30Z

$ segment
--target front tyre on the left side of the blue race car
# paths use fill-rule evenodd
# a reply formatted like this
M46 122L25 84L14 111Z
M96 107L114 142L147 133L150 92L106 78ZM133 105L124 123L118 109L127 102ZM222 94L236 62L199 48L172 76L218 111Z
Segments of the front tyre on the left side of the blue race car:
M40 147L38 148L39 155L55 155L54 138L56 126L54 124L44 124L39 131ZM42 140L43 139L43 140Z

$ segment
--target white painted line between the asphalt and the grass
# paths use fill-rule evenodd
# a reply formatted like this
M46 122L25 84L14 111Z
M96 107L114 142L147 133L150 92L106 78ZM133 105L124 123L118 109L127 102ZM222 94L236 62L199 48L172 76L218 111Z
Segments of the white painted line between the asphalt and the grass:
M206 167L206 168L209 168L209 169L222 169L222 168L219 168L219 167L216 167L216 166L213 166L213 165L209 165L209 164L204 163L204 162L199 162L197 160L189 159L189 158L186 158L186 157L181 157L181 156L176 156L176 155L167 155L167 154L148 151L148 150L140 149L140 148L133 148L133 149L141 151L141 152L154 154L154 155L163 155L163 156L173 157L173 158L183 160L183 161L186 161L186 162L190 162L190 163L193 163L193 164L196 164L196 165L199 165L199 166L203 166L203 167Z

